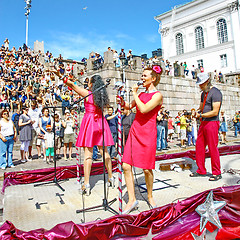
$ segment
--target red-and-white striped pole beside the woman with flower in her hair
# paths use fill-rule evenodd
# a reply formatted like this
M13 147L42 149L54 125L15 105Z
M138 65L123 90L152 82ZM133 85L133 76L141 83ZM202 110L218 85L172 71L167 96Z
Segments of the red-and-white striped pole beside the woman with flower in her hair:
M120 99L120 89L118 90ZM118 191L119 191L119 214L122 214L122 121L121 121L121 102L118 103Z

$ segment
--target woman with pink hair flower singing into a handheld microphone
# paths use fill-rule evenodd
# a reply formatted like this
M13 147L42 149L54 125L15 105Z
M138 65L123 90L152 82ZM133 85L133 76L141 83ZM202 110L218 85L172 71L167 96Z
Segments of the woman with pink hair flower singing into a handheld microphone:
M152 208L156 207L152 196L154 178L152 169L155 168L157 147L156 118L162 105L162 94L156 89L160 81L161 73L162 69L159 66L146 68L141 77L143 87L146 88L146 91L138 94L138 86L135 85L132 88L134 97L132 103L125 103L123 99L121 99L122 107L132 109L136 106L137 108L136 117L131 126L122 159L129 197L123 214L128 214L138 205L134 191L133 166L143 169L147 186L148 202Z

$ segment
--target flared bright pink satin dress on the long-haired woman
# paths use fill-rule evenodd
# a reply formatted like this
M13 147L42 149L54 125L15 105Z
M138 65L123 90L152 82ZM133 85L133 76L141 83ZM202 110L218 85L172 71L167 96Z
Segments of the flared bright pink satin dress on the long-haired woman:
M90 92L89 92L90 93ZM84 100L85 114L78 134L77 147L93 147L103 145L102 111L94 105L93 95ZM104 145L114 145L112 134L104 117Z

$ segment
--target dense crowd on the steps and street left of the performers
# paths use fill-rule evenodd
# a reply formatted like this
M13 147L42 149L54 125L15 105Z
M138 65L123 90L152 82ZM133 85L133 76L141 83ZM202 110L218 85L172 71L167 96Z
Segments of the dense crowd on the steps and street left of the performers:
M53 156L53 118L56 120L57 158L60 158L60 148L63 146L64 158L68 159L68 148L68 156L71 160L74 118L70 110L71 102L76 101L78 96L65 87L62 80L57 78L52 70L69 75L72 74L73 67L69 63L64 65L61 55L53 58L49 51L34 52L25 44L18 49L15 47L9 49L8 39L1 46L0 167L2 169L14 167L11 160L13 138L15 140L17 138L21 143L20 160L22 163L32 160L33 144L37 149L37 157L50 163ZM55 116L53 116L53 106L56 107ZM5 129L8 125L13 126L9 128L12 129L11 133ZM65 134L60 138L61 126ZM9 136L11 136L10 139L8 139ZM4 150L4 153L3 149L7 151Z

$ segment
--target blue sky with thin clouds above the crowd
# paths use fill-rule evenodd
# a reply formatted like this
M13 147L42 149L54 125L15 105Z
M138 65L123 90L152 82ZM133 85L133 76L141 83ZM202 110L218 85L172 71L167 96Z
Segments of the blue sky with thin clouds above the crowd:
M28 45L44 41L44 50L54 56L80 60L91 51L103 54L110 46L134 55L161 47L154 16L188 0L32 0ZM24 0L0 0L0 44L10 48L25 42Z

